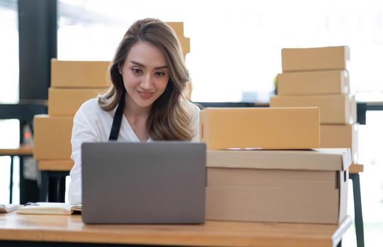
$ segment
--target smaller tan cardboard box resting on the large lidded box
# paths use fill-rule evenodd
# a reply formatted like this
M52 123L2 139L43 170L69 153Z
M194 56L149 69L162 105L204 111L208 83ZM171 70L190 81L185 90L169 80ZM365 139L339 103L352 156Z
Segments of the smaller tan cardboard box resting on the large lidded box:
M200 140L207 149L319 147L319 109L205 108Z

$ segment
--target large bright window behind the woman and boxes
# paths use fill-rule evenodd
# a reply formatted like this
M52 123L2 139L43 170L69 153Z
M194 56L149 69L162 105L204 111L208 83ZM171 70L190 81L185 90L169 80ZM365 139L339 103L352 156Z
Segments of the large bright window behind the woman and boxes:
M61 0L59 59L110 60L130 24L147 17L183 21L194 101L268 102L282 48L338 45L350 47L357 99L383 100L381 1Z

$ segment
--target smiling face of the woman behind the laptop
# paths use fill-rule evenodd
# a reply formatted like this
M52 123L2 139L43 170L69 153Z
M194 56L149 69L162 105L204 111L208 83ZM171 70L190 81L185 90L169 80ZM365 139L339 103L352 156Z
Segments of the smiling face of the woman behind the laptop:
M137 42L130 48L120 72L130 107L152 107L168 85L169 72L165 56L149 42Z

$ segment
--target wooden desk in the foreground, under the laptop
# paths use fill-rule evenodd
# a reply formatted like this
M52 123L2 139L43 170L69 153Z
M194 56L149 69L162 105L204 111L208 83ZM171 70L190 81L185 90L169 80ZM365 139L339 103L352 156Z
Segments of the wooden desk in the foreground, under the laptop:
M87 225L81 215L0 214L0 246L19 241L176 246L337 246L352 224L207 221L203 225Z

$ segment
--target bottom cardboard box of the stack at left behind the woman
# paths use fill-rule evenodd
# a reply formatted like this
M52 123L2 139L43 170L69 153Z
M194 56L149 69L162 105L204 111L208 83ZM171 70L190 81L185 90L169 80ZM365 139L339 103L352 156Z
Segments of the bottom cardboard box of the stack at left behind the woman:
M36 115L35 159L70 159L72 154L71 136L73 117Z

